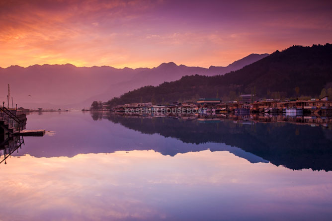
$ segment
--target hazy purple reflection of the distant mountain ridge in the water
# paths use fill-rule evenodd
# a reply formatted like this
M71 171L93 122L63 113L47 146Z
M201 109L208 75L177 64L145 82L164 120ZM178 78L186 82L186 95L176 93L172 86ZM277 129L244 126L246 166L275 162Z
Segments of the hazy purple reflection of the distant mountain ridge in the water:
M89 113L72 112L58 115L50 112L31 116L35 117L31 118L31 122L39 120L34 127L48 125L48 129L52 132L41 139L26 138L28 145L18 153L13 153L15 156L29 154L33 157L73 157L87 153L151 149L163 155L174 156L178 153L210 149L211 151L229 151L251 163L268 162L239 147L220 143L200 145L183 143L179 139L165 138L157 134L142 134L107 120L93 122ZM101 119L101 116L92 115L96 119Z

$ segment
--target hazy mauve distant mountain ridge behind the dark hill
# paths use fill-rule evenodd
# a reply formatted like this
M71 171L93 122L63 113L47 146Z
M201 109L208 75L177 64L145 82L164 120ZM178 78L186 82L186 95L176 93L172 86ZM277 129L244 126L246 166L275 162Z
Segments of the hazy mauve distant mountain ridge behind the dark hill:
M71 64L33 65L27 68L10 66L0 68L0 99L6 101L9 83L14 105L17 103L26 108L88 108L93 100L108 100L141 86L159 85L188 74L225 74L230 69L235 71L266 55L251 54L227 67L212 69L177 66L172 62L152 69L76 67Z

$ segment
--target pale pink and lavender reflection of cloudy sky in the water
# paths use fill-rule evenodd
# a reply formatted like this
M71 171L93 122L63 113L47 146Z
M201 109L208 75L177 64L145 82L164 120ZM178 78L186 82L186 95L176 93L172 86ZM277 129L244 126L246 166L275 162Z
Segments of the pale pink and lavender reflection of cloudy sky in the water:
M251 164L227 151L25 155L1 168L0 191L7 220L230 219L235 208L238 218L278 219L303 209L322 218L331 215L331 175ZM283 203L301 207L287 210Z

